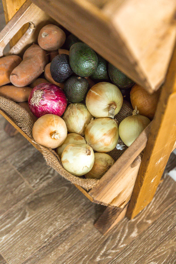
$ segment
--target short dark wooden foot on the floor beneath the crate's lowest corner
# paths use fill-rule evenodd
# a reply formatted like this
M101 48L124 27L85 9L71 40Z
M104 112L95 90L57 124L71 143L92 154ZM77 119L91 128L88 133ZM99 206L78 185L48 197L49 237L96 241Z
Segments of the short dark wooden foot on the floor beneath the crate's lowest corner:
M101 234L108 233L119 221L123 219L126 214L128 204L123 208L107 207L99 219L95 222L94 227L97 228Z

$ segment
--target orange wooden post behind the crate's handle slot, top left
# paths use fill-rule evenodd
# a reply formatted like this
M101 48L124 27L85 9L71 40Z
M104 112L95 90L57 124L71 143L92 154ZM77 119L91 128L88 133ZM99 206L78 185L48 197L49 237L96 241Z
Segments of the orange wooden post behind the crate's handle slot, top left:
M20 7L24 4L26 0L2 0L4 6L4 15L6 19L6 23L8 23L11 18L15 15L15 13L20 9ZM22 28L14 35L14 37L10 41L10 46L16 44L16 42L21 38L21 36L26 32L28 29L28 24L23 25Z

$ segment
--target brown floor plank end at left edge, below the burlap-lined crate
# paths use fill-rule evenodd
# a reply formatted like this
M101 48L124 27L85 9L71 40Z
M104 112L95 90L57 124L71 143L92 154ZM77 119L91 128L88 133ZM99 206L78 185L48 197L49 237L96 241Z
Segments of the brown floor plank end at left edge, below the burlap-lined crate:
M0 168L0 214L4 214L33 189L7 161L0 163Z

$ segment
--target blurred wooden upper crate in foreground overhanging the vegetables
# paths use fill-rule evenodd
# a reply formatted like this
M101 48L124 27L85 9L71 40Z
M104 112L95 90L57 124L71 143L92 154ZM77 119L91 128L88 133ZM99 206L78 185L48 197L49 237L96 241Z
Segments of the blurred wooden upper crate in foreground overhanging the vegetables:
M162 84L176 36L175 0L33 2L149 92Z

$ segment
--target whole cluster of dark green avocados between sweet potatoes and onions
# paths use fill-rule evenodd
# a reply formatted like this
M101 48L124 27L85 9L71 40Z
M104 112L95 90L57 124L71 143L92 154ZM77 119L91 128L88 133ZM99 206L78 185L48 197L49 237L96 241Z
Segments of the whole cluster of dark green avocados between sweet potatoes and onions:
M96 82L112 82L123 96L128 96L134 82L123 72L96 54L87 44L70 34L65 42L69 55L59 54L51 62L50 72L55 82L64 84L64 92L69 102L77 103L85 99L89 83L85 77Z

